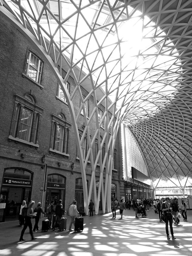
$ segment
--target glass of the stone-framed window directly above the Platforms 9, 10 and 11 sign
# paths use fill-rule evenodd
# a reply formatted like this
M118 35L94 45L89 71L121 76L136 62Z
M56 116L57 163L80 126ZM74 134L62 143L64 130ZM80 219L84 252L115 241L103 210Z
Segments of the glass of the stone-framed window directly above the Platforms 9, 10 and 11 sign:
M26 109L22 109L21 120L19 125L19 139L29 141L31 134L33 113Z

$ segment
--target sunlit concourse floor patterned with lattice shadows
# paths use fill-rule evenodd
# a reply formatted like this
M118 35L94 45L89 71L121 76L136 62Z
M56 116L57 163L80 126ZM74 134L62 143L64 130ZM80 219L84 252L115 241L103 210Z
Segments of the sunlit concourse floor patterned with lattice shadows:
M18 221L0 223L0 256L192 256L192 211L187 211L187 222L181 217L173 225L176 240L167 239L165 223L151 208L146 218L135 219L132 209L123 214L122 220L119 211L116 219L112 213L85 216L83 232L38 231L34 241L27 228L24 242L19 242Z

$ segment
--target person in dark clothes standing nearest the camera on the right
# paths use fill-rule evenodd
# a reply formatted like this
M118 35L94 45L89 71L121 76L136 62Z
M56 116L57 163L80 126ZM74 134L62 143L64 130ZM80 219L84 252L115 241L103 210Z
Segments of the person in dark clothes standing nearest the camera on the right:
M173 235L173 217L172 217L172 208L170 207L170 199L169 197L166 197L165 199L166 201L162 203L162 211L166 216L166 222L165 222L165 230L166 230L166 234L167 234L167 238L170 239L169 236L169 230L168 230L168 224L170 227L170 232L171 232L171 236L172 239L176 239L176 237Z

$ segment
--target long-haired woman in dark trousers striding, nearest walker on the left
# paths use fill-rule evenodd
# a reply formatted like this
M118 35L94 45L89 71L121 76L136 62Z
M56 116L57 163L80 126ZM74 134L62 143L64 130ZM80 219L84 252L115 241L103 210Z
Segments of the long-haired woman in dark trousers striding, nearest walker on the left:
M23 239L23 235L24 235L24 232L25 232L27 226L29 227L29 233L31 235L32 240L36 239L36 237L33 236L32 223L31 223L31 218L33 216L36 216L36 213L33 213L33 208L32 208L34 206L34 204L35 204L35 201L31 201L28 205L27 216L25 217L25 224L21 231L21 236L20 236L19 241L25 241L25 239Z

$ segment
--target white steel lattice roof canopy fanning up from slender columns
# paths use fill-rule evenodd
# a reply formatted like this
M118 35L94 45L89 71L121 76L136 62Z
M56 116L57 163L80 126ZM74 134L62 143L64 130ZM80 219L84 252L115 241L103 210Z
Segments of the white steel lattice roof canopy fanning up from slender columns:
M123 122L139 143L153 181L192 176L191 0L0 0L0 5L0 13L44 54L67 99L80 157L85 209L93 189L96 212L100 193L103 211L110 210L113 151ZM62 68L67 72L64 80ZM71 95L65 86L69 75L76 85ZM82 88L88 92L85 98ZM80 95L82 103L76 115L75 94ZM87 118L85 103L90 96L94 108ZM100 120L101 104L105 111ZM82 111L85 128L80 140L77 121ZM97 127L91 138L93 118ZM105 135L100 141L103 123ZM84 161L81 145L85 136L89 149ZM92 166L89 191L85 173L88 160Z

